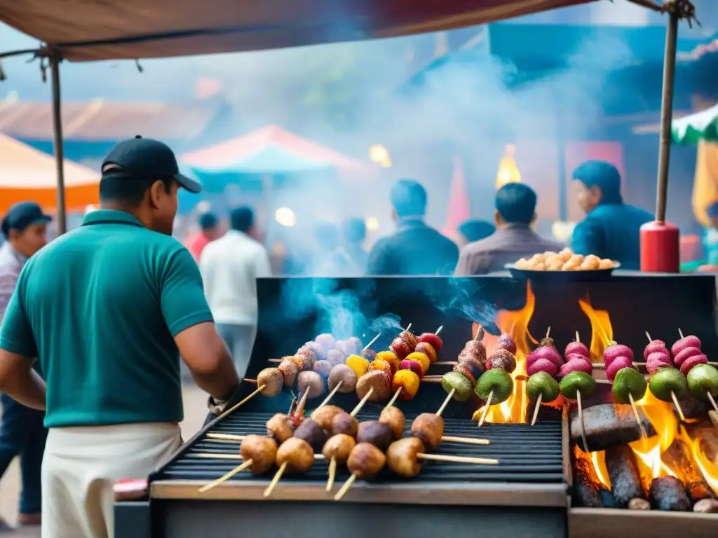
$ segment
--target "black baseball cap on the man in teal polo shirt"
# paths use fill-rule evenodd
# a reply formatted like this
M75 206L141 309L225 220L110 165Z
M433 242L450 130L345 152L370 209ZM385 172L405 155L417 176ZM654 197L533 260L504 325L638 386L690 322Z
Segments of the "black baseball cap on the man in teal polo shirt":
M102 164L102 177L115 179L160 179L172 177L190 192L202 191L199 181L180 174L177 157L167 144L137 135L118 143Z

